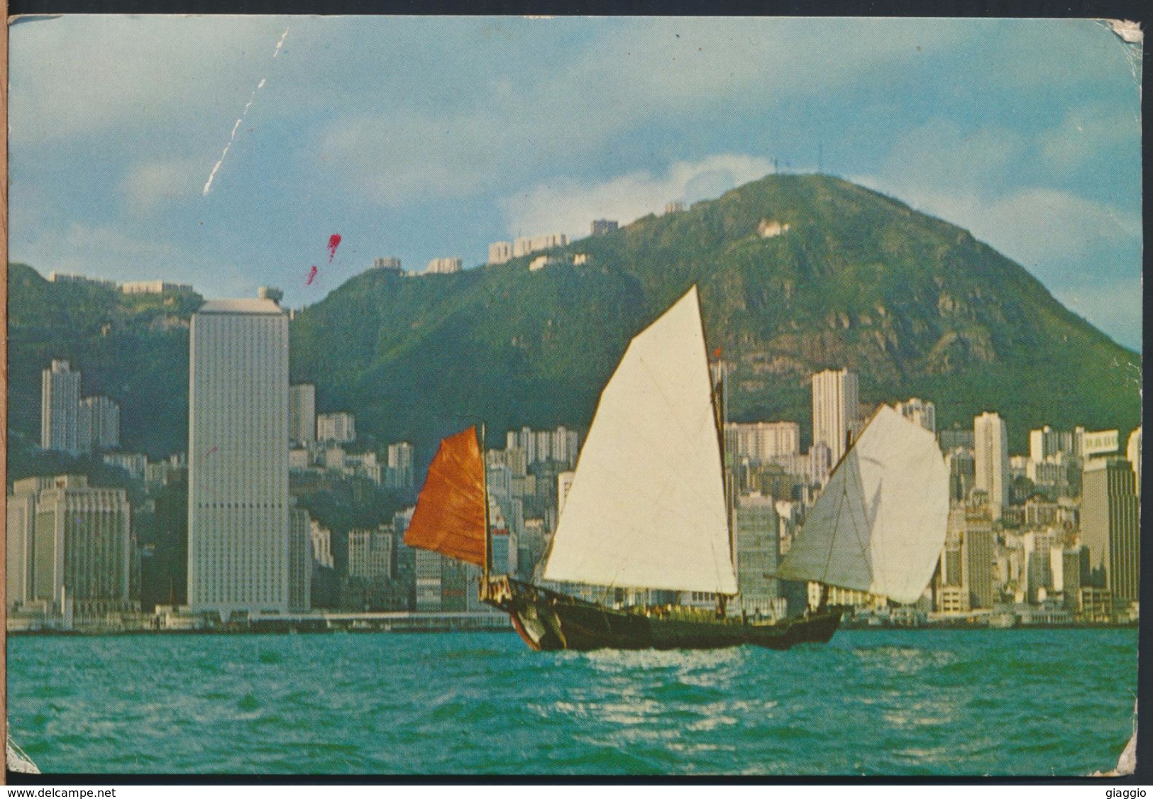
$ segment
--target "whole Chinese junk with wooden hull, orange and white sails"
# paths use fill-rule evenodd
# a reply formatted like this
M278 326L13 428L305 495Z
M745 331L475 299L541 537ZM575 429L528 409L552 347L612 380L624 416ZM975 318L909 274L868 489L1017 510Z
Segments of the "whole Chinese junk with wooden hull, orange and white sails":
M475 428L440 443L405 543L481 567L480 598L507 612L533 649L824 643L843 612L827 603L827 588L819 606L793 618L725 612L737 576L719 389L694 286L632 340L604 387L541 580L598 587L606 597L619 596L612 589L707 593L716 611L589 602L490 574ZM832 472L776 576L914 602L944 542L948 476L933 435L882 406Z

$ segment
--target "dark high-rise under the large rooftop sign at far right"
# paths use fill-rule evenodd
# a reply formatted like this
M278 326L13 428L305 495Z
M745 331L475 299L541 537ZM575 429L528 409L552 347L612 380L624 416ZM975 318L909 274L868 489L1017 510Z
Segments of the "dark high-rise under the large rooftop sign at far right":
M1124 458L1085 461L1080 541L1090 567L1115 600L1136 601L1140 578L1139 502L1133 469Z

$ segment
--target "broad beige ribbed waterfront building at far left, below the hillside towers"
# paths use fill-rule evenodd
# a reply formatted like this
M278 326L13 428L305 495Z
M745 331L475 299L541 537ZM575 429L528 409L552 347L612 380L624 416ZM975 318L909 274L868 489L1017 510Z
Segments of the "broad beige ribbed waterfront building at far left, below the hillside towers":
M131 508L125 490L90 488L83 475L39 485L29 600L66 612L67 593L77 615L128 610Z

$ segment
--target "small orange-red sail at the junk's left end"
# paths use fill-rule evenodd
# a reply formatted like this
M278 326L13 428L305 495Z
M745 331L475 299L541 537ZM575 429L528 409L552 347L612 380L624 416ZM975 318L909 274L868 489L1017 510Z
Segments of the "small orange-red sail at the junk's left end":
M405 543L483 566L484 510L484 461L468 428L442 439Z

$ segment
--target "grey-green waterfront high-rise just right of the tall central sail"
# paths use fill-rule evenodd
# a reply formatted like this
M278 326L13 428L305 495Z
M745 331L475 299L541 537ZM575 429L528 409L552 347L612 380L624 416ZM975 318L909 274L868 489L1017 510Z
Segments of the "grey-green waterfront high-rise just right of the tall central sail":
M773 497L748 493L737 500L737 587L746 613L770 615L779 596L771 574L781 560L781 519Z

